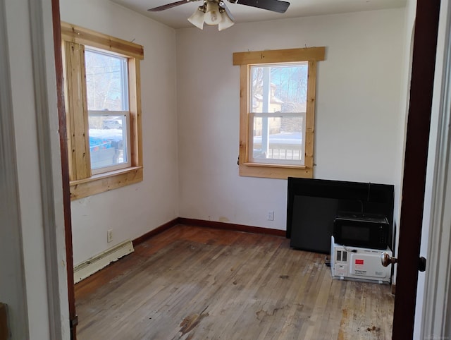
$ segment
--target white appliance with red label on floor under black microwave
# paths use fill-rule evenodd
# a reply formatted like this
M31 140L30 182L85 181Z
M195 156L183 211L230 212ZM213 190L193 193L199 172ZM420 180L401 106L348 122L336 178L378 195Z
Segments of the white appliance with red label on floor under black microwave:
M340 245L335 243L332 236L330 246L332 277L379 284L390 283L392 266L383 267L382 253L393 255L389 248L380 250Z

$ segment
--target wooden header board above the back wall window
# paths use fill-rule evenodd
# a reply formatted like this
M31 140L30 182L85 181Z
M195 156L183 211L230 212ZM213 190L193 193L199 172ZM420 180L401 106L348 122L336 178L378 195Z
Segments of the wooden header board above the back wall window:
M233 54L233 65L290 63L292 61L323 61L325 54L326 47L237 52Z

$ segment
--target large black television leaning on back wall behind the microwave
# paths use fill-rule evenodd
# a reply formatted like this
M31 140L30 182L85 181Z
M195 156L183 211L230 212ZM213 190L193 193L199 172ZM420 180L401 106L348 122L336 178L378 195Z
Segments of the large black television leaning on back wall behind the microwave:
M330 253L335 215L355 212L384 215L393 249L394 193L391 184L289 177L286 236L290 247Z

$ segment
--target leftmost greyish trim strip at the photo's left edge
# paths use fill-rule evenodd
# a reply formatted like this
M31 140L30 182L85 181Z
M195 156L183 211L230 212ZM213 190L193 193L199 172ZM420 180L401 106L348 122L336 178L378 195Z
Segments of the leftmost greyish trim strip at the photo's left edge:
M19 340L30 339L30 335L4 0L0 0L0 46L0 301L8 304L11 311L11 339Z

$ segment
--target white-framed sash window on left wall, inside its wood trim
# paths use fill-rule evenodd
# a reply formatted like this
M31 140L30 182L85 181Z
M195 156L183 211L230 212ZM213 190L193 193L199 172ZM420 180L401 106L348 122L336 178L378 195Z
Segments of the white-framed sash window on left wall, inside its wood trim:
M127 58L85 48L91 173L130 166Z

